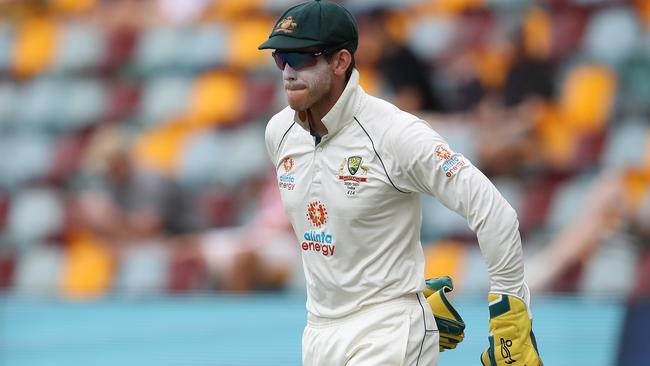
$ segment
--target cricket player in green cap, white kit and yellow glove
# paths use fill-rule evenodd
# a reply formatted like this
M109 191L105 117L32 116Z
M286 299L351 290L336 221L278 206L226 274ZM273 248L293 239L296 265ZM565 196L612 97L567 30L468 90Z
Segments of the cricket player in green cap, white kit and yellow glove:
M358 31L340 5L286 10L274 49L289 106L266 144L307 284L305 365L437 365L439 335L423 290L419 193L465 216L490 273L486 365L537 366L514 210L424 121L365 94ZM498 350L495 352L495 348Z

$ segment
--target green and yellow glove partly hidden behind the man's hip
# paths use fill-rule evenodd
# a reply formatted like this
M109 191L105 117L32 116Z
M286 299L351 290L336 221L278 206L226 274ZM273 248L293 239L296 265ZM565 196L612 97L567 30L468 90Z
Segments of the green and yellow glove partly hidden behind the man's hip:
M454 349L465 338L465 322L447 299L447 292L454 289L451 277L443 276L426 280L424 296L433 310L440 334L440 352Z

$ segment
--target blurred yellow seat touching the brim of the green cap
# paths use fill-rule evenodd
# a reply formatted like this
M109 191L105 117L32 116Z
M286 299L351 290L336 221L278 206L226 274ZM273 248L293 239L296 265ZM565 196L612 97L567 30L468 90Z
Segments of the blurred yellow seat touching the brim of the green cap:
M273 27L273 19L253 17L241 19L227 25L230 31L228 64L237 68L253 68L267 63L270 54L257 49L264 42Z

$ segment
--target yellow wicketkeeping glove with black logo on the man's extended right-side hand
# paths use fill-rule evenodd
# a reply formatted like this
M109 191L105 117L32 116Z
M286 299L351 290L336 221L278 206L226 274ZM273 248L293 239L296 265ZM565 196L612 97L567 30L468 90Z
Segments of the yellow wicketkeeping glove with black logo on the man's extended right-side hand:
M526 303L510 295L488 295L490 346L481 354L483 366L543 366Z

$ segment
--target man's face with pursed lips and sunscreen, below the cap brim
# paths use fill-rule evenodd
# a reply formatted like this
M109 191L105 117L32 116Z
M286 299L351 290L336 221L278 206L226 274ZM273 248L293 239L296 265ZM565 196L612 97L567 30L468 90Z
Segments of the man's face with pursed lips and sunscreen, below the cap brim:
M331 90L332 70L323 56L315 65L293 69L284 66L282 80L289 106L296 111L305 111L326 96Z

